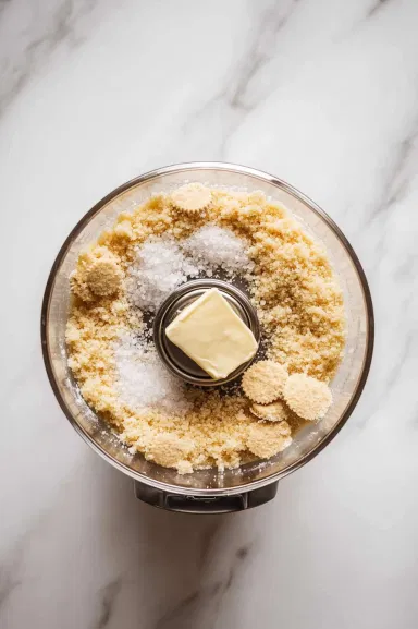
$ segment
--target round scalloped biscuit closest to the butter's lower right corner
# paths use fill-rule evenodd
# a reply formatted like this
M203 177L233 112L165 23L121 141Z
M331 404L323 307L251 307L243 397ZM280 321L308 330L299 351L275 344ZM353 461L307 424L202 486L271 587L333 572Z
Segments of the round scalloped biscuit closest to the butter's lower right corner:
M283 365L273 361L260 361L245 372L243 389L250 400L268 404L282 396L287 377Z

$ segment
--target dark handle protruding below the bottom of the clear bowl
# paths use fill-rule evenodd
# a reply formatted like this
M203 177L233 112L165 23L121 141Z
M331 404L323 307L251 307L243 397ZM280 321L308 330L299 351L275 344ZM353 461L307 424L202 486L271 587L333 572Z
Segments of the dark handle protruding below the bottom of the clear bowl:
M230 496L183 496L156 489L135 481L135 495L139 500L159 509L179 511L181 513L231 513L233 511L244 511L268 503L274 498L276 491L278 482L270 483L259 489Z

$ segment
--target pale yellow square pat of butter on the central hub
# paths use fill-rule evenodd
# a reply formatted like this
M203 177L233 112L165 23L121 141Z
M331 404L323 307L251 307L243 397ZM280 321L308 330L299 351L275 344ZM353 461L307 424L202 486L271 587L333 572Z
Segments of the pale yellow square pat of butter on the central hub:
M251 330L216 288L185 307L165 334L213 379L225 378L258 348Z

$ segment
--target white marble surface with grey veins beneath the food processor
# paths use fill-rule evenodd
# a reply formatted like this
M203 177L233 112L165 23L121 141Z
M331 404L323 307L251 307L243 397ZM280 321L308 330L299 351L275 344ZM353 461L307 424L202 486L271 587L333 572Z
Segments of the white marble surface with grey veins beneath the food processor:
M416 0L0 1L2 629L418 626L417 26ZM229 517L136 501L58 408L38 334L81 216L195 159L315 198L377 311L346 427Z

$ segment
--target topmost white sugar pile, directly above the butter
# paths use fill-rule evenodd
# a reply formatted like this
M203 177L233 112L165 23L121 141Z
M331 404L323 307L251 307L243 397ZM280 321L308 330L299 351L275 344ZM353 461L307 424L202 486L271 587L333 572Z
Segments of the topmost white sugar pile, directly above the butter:
M245 251L245 241L230 229L206 225L185 240L182 246L205 270L213 271L222 267L228 275L237 271L245 275L254 267Z

